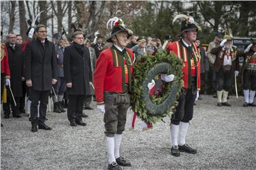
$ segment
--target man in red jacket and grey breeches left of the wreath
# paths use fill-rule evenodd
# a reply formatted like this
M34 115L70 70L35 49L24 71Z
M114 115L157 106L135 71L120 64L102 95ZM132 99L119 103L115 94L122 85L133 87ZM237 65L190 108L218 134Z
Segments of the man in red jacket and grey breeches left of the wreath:
M125 28L123 20L115 17L109 22L114 22L114 27L107 41L113 45L103 50L97 59L94 73L95 96L97 108L104 114L108 169L122 169L119 165L131 166L129 161L120 156L119 149L122 133L125 131L127 109L130 107L134 56L126 48L131 31Z

